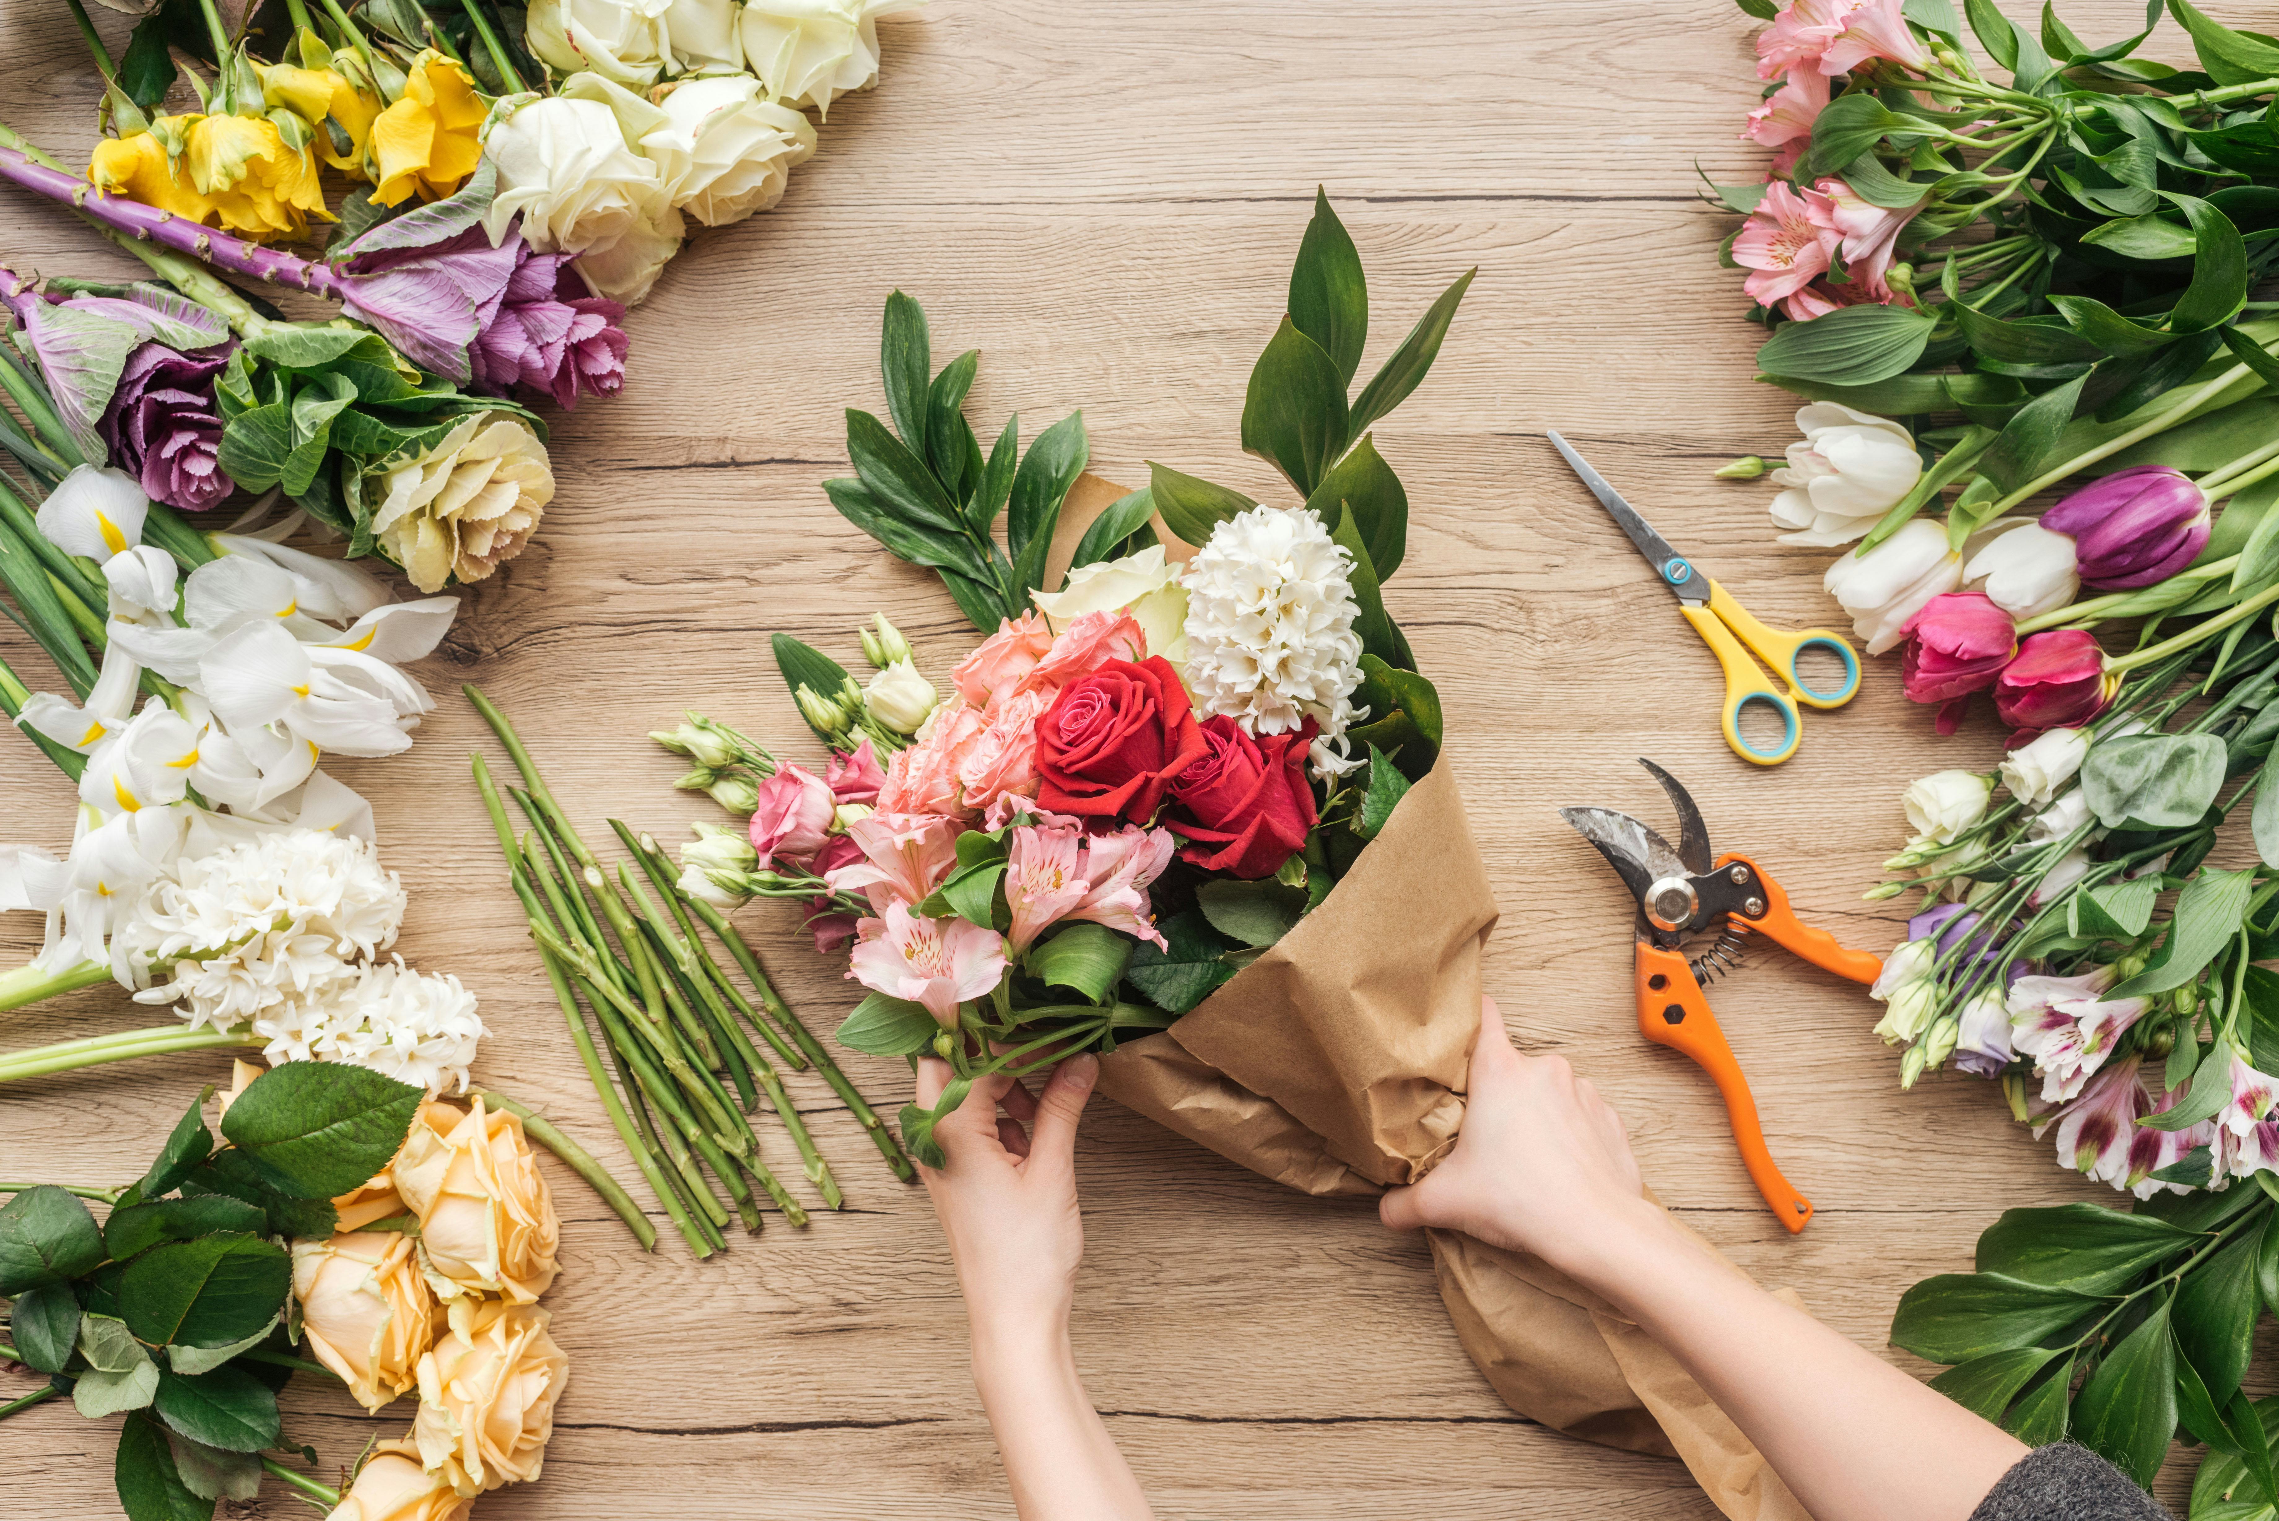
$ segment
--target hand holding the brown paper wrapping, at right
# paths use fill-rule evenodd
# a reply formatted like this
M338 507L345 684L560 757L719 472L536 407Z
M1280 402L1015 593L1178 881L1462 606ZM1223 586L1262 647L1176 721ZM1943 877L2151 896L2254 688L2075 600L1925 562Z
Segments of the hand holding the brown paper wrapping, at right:
M1386 1193L1386 1225L1456 1229L1577 1277L1620 1238L1664 1229L1623 1117L1563 1058L1520 1056L1493 999L1479 1001L1465 1088L1456 1149L1422 1184Z

